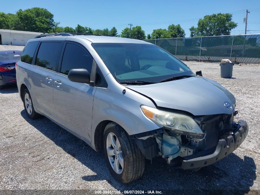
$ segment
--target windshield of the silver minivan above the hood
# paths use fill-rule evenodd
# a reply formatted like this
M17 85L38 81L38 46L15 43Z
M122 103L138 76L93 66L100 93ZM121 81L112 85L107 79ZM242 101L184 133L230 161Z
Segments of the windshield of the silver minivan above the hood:
M192 71L170 53L151 44L92 43L109 71L122 81L148 81L181 75Z

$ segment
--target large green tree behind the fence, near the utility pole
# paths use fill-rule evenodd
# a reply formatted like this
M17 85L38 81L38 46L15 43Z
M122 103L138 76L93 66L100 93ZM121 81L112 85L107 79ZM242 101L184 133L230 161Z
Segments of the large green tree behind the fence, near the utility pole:
M190 36L230 35L230 31L238 24L232 21L232 14L218 13L206 15L198 20L198 27L190 27Z

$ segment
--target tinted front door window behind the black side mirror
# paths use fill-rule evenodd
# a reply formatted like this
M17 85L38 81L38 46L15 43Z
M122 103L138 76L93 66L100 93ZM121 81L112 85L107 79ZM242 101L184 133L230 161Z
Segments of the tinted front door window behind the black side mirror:
M73 68L85 68L91 73L93 59L79 45L67 43L62 59L61 73L68 75Z

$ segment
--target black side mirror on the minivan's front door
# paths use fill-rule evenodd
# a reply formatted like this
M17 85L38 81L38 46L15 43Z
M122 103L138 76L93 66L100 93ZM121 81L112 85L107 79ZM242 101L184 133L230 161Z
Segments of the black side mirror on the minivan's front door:
M89 83L89 72L84 68L71 69L68 74L68 79L77 83Z

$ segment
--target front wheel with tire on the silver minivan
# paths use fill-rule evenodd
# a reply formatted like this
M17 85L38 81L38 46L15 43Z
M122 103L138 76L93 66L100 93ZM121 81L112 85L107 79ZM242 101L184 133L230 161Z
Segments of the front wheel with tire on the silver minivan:
M107 124L103 141L107 166L117 181L130 183L142 177L145 157L120 125Z

